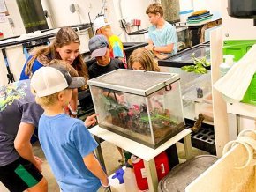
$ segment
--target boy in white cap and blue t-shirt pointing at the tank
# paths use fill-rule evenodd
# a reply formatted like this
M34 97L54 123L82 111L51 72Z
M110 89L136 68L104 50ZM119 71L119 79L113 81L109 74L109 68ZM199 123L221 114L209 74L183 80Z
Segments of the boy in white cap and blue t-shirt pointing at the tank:
M87 129L96 122L96 114L82 122L63 110L72 89L85 84L85 78L72 78L62 66L42 67L31 78L35 100L44 109L38 130L41 148L61 191L97 191L109 185L94 156L98 144Z

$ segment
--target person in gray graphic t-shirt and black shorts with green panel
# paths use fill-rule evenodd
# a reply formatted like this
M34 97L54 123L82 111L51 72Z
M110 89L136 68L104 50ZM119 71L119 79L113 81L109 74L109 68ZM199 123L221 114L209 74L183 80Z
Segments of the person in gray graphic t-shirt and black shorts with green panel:
M47 191L41 159L30 144L42 113L30 80L0 87L0 181L10 191Z

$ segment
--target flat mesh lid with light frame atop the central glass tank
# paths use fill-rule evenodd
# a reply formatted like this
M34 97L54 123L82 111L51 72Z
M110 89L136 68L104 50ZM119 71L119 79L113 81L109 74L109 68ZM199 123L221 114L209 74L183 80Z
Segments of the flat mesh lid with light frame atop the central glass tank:
M87 84L147 96L177 80L179 76L176 73L118 69L90 79Z

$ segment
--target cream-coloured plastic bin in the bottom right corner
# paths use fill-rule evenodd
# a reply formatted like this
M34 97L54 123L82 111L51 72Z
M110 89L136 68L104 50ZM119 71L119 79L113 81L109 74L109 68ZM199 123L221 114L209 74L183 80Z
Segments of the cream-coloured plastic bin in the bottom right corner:
M186 192L253 192L256 190L256 166L243 166L248 154L237 144L206 172L185 188Z

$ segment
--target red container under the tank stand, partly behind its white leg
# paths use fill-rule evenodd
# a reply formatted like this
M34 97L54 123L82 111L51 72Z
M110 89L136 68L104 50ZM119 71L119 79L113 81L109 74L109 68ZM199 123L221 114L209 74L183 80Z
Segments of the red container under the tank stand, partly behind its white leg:
M158 181L169 173L169 160L165 151L154 158ZM132 166L139 190L147 190L147 173L143 159L132 157Z

